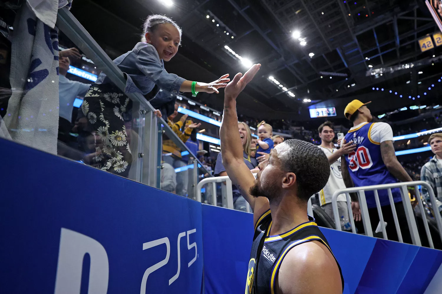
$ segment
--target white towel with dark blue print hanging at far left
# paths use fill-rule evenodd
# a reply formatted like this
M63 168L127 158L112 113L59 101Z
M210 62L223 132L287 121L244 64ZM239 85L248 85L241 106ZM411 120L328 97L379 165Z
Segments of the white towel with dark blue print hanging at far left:
M15 17L10 82L4 123L12 140L57 154L58 29L27 5Z

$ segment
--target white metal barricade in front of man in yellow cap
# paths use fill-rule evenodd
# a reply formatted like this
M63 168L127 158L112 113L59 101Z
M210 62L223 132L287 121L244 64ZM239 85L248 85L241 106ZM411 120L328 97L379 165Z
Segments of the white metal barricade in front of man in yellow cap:
M436 197L434 196L434 191L431 188L431 186L427 182L424 182L424 181L398 182L398 183L392 183L392 184L352 187L352 188L345 188L345 189L336 190L331 198L331 205L333 208L333 217L335 220L336 230L341 231L337 198L338 198L338 195L345 193L346 197L347 197L347 208L348 208L348 212L349 212L349 219L351 221L351 230L353 233L356 233L356 229L354 227L353 212L351 209L350 193L357 193L358 200L359 200L359 206L361 209L362 222L364 224L364 230L366 232L366 235L373 237L373 230L371 227L370 216L368 213L367 201L366 201L366 196L365 196L365 191L373 191L374 199L375 199L376 207L377 207L377 212L378 212L379 220L380 220L380 224L381 224L381 231L382 231L384 239L388 239L387 232L385 230L385 223L384 223L384 218L382 215L381 204L379 201L379 195L377 193L377 190L387 190L388 197L389 197L389 203L390 203L390 206L392 209L394 224L396 226L397 236L398 236L399 242L404 242L403 238L402 238L401 231L400 231L399 220L397 217L396 208L395 208L395 205L393 202L393 196L392 196L392 192L391 192L391 189L393 189L393 188L400 188L400 194L402 197L402 203L404 205L405 216L407 218L407 224L408 224L408 228L410 230L412 242L414 245L421 246L419 232L417 230L416 220L415 220L415 217L413 214L413 209L412 209L410 197L408 197L408 189L407 189L408 186L415 188L416 198L418 200L418 207L419 207L419 210L423 216L423 225L425 227L425 233L427 234L427 238L428 238L428 242L430 244L430 247L434 248L433 239L431 238L430 229L428 226L428 221L425 217L426 212L423 207L423 203L422 203L422 199L420 197L418 186L425 186L427 188L428 194L430 195L431 204L433 205L433 207L437 207ZM438 232L439 232L439 235L442 240L442 218L437 211L434 213L434 218L436 220Z

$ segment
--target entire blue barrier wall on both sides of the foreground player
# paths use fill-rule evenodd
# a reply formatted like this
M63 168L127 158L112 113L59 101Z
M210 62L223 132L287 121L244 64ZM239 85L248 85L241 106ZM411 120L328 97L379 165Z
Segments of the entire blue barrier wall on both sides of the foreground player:
M2 139L0 153L2 293L243 293L251 214ZM345 294L440 293L442 251L321 231Z

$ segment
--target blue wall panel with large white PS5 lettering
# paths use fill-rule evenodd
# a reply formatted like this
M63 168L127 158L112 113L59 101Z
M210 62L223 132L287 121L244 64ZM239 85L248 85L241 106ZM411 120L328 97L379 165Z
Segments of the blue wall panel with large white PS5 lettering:
M202 293L201 203L0 141L2 293Z

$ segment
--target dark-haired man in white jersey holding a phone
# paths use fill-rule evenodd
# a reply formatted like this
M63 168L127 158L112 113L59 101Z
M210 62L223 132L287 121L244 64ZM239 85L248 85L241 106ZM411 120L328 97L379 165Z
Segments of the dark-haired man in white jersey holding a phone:
M328 178L327 184L319 192L319 202L321 208L324 209L332 220L334 220L334 217L333 208L331 207L331 197L336 190L346 188L341 173L341 156L351 153L356 148L353 141L350 141L348 143L341 144L341 148L336 149L335 145L333 144L333 140L335 139L334 129L333 123L329 121L321 124L318 128L319 137L321 138L321 145L318 147L324 151L330 164L330 177ZM342 138L338 137L338 140L339 139ZM347 198L345 194L340 194L338 196L338 211L339 217L343 219L344 224L348 223ZM346 230L347 228L342 227L342 229Z

